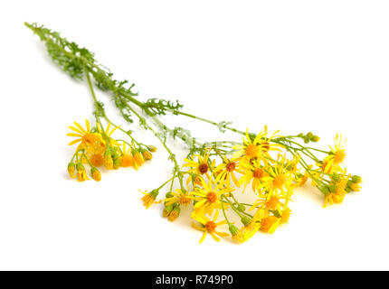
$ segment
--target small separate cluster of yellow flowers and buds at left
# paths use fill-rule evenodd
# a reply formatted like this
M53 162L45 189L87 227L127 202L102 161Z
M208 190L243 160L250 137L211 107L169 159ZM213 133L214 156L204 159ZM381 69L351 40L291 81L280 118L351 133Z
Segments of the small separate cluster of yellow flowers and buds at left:
M87 119L85 126L84 128L74 122L74 126L69 126L72 132L67 134L76 137L69 145L78 144L68 164L68 172L71 178L77 178L79 182L89 180L85 164L90 166L91 178L99 182L101 180L99 167L104 166L107 170L133 167L138 170L145 161L152 159L151 153L157 150L155 146L138 143L130 132L123 131L130 136L130 143L112 138L112 134L120 127L114 126L110 129L111 123L103 129L99 122L91 127Z

